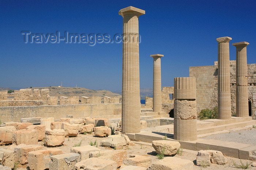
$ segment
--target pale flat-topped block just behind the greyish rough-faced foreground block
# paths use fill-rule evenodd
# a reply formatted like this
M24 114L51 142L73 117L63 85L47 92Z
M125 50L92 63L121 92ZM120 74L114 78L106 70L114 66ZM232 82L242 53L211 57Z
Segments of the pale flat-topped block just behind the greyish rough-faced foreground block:
M92 151L100 151L99 148L86 145L86 146L78 146L78 147L72 147L70 152L80 154L81 160L89 158L89 153Z

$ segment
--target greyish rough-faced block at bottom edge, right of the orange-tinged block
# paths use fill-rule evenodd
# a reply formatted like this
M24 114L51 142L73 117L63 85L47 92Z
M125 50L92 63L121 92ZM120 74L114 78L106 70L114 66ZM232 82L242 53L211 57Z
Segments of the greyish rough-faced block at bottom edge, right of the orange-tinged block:
M50 156L49 170L72 170L81 161L81 155L76 153Z

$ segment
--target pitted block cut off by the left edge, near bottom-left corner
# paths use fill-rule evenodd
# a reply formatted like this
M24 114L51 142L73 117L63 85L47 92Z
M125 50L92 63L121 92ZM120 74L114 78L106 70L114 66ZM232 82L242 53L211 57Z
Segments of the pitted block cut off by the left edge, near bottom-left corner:
M14 151L0 148L0 155L1 155L1 158L0 158L1 165L8 166L10 168L14 168L14 163L15 163ZM0 169L1 169L1 167L0 167Z

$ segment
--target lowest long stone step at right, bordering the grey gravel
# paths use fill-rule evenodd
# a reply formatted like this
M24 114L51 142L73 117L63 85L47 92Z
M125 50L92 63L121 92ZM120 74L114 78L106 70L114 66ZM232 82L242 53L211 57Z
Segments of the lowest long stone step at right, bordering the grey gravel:
M242 121L242 122L204 127L204 128L197 128L197 135L208 134L212 132L223 131L223 130L228 130L233 128L245 127L245 126L254 125L254 124L256 124L256 120Z

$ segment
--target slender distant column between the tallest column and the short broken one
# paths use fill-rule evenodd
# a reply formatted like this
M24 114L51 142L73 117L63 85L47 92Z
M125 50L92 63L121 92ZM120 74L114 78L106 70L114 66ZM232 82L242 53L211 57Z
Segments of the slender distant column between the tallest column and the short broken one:
M153 57L153 112L162 112L161 54Z

